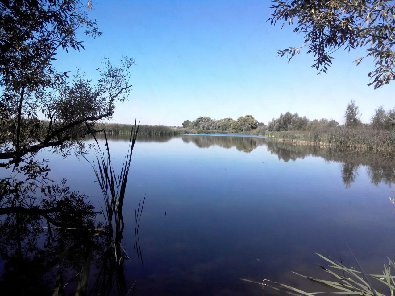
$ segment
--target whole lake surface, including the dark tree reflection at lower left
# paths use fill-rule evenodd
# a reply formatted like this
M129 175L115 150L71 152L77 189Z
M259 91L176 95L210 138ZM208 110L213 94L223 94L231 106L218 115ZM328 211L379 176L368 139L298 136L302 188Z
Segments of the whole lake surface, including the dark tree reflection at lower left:
M115 142L114 161L121 163L129 137L109 138ZM391 232L393 216L382 215L390 206L387 198L381 198L388 196L389 189L365 182L368 176L373 184L392 184L391 155L253 137L183 135L139 137L138 141L130 189L141 197L148 191L150 202L144 210L141 238L136 229L133 237L132 230L139 217L138 204L131 199L126 203L129 228L122 247L126 246L132 260L115 264L119 262L111 252L115 245L94 215L74 213L71 219L70 211L51 213L56 226L51 230L43 228L47 221L37 215L2 215L0 290L4 294L73 295L89 282L90 295L127 295L137 280L137 295L260 295L261 289L252 291L254 287L239 278L288 283L280 274L306 273L301 266L310 258L315 261L314 251L339 254L344 238L355 243L371 237L364 244L355 243L356 252L369 258L376 254L380 264L381 256L391 251L392 236L391 241L380 241ZM197 148L211 146L233 150ZM218 150L225 152L224 157ZM331 164L313 157L297 161L309 156ZM58 165L55 171L61 170L73 188L84 190L93 200L98 188L94 176L85 177L92 174L88 164L84 167L72 158L52 161L51 165ZM73 179L76 167L79 174ZM352 186L358 178L363 182ZM345 190L342 182L352 189ZM89 205L80 206L82 213ZM139 262L140 239L144 267ZM137 256L132 256L133 248Z

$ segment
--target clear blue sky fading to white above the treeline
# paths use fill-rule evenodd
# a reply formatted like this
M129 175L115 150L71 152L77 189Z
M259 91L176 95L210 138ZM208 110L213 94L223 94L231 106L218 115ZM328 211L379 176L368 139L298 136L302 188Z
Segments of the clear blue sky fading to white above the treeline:
M199 116L214 119L251 114L259 122L281 112L344 122L355 99L368 122L374 109L395 107L395 82L374 90L363 51L338 51L328 74L310 68L306 50L288 64L276 52L303 44L291 27L272 27L269 0L263 1L105 1L94 2L101 37L81 34L85 51L58 54L58 71L86 70L98 79L103 57L114 63L134 56L129 100L118 103L113 121L181 126Z

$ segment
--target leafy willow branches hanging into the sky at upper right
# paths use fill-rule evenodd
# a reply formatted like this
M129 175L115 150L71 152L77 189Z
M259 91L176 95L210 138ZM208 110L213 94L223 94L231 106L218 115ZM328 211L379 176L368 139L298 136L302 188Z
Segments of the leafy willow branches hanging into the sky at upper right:
M314 54L312 67L326 73L332 64L331 54L338 49L358 47L366 55L355 60L358 65L364 58L374 60L374 69L368 76L374 89L395 79L395 5L391 0L272 0L273 11L268 21L282 26L294 26L293 32L303 34L300 47L278 51L289 60L304 47Z

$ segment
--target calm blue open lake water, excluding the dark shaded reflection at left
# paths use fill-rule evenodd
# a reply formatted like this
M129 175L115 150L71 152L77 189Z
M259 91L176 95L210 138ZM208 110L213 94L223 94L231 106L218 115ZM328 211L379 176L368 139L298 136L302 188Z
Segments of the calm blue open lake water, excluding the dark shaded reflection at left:
M120 164L127 137L112 137ZM85 159L45 153L52 178L102 195ZM93 159L94 154L88 154ZM391 156L295 146L262 137L183 135L135 145L124 239L135 295L261 295L246 283L271 279L305 288L291 271L317 275L314 252L366 272L395 259ZM134 249L134 212L146 195ZM166 214L165 214L166 213ZM269 291L269 290L268 290ZM272 290L270 290L270 293ZM274 294L274 293L273 293Z

